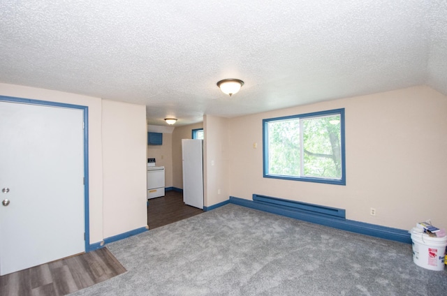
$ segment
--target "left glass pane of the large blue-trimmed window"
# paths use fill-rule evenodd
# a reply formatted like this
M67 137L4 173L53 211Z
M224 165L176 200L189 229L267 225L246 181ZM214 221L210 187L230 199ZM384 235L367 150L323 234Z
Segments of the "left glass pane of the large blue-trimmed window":
M273 175L300 175L300 121L268 123L268 171Z

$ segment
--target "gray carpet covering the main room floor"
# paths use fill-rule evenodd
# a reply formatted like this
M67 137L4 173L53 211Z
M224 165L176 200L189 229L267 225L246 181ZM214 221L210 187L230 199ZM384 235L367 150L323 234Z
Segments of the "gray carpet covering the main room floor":
M73 295L447 295L409 244L237 205L108 249L128 272Z

